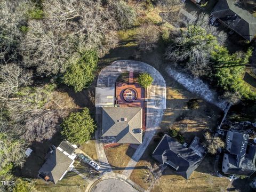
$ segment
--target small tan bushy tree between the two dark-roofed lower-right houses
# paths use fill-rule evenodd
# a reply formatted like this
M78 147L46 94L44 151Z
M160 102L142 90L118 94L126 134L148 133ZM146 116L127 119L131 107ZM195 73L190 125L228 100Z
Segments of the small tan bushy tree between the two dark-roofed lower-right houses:
M210 154L216 154L219 148L225 147L225 142L220 137L213 137L210 132L204 134L205 145Z

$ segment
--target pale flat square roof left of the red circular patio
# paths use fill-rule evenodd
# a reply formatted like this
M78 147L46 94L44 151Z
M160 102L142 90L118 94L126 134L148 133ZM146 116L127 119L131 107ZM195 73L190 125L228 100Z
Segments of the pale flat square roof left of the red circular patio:
M96 87L95 106L115 105L115 87Z

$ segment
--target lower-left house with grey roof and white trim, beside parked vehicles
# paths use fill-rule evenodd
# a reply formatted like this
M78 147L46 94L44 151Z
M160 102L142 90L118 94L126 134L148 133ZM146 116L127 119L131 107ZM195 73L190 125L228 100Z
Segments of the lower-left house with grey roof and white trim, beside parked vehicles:
M70 145L70 143L62 141L59 147L47 154L45 163L38 171L38 177L56 184L74 167L73 163L76 158L74 154L75 149L75 145Z

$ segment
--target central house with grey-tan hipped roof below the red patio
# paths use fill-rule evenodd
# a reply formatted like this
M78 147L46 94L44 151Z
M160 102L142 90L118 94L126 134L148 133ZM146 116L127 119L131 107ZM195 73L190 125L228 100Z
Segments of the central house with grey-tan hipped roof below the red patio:
M116 143L142 143L141 107L102 107L102 137Z

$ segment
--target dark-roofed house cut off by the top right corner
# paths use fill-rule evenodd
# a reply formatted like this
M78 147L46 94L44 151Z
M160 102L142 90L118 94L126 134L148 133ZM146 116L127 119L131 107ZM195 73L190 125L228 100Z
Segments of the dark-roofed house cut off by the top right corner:
M212 12L221 23L252 41L256 34L256 18L236 0L219 0Z

